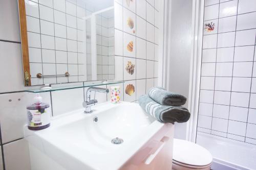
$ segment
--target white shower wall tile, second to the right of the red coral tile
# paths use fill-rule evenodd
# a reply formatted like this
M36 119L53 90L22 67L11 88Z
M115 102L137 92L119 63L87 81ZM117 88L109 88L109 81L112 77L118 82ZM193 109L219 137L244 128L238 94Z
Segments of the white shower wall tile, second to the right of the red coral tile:
M238 15L237 30L246 30L256 28L256 12Z

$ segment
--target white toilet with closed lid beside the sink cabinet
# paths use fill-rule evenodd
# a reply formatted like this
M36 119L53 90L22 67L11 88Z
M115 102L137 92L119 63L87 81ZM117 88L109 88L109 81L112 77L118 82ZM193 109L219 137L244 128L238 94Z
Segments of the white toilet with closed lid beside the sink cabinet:
M212 156L200 145L181 139L174 139L173 170L210 170Z

